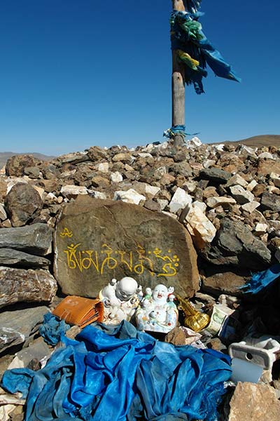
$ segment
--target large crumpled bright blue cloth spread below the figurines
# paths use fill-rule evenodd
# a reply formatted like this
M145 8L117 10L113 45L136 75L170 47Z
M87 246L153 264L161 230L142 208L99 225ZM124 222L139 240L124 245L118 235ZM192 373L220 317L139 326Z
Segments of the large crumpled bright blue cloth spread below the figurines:
M174 347L127 321L62 342L41 370L3 375L4 389L27 396L26 421L212 421L232 373L220 352Z

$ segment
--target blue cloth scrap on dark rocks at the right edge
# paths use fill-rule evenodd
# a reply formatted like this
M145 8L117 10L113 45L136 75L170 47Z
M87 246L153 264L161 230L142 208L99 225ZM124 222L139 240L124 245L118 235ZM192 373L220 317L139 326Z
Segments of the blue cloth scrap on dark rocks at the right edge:
M263 272L253 274L251 280L240 287L244 293L256 294L280 276L280 263L269 267Z

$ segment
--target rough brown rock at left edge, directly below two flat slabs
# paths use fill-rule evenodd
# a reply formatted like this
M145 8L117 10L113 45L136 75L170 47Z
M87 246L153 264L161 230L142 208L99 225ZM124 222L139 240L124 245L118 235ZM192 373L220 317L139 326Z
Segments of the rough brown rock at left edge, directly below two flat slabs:
M46 270L0 266L0 308L15 302L50 301L56 291L57 282Z

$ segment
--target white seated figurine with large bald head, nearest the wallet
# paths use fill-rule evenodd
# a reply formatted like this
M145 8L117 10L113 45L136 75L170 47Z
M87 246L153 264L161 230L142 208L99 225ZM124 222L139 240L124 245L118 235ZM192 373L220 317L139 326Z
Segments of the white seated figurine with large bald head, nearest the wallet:
M103 322L115 325L122 320L130 321L143 296L141 289L129 276L120 281L112 279L99 293L104 304Z

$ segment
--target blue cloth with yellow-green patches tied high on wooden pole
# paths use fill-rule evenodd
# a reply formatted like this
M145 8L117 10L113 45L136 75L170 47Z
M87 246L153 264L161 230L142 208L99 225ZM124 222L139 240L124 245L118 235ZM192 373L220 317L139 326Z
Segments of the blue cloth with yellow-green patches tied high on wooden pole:
M188 8L187 8L188 10ZM186 83L193 83L198 94L204 93L202 79L207 76L207 65L211 67L216 76L234 81L241 81L232 67L225 62L221 53L211 44L202 32L197 20L202 13L188 13L174 11L170 19L172 50L181 50L197 60L199 65L195 69L185 66Z

